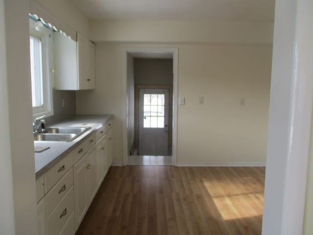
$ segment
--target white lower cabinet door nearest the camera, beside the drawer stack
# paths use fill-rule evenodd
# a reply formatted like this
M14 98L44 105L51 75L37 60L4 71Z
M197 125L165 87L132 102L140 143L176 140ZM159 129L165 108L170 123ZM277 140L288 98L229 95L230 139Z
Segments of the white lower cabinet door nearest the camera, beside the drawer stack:
M75 224L78 229L88 209L86 155L74 165Z

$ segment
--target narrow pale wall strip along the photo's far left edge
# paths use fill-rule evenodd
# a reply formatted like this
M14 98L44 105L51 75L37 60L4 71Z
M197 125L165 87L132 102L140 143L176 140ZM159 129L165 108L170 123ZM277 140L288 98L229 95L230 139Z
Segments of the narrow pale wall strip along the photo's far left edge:
M0 234L14 235L13 180L10 149L8 83L6 74L6 50L4 27L4 0L0 0Z

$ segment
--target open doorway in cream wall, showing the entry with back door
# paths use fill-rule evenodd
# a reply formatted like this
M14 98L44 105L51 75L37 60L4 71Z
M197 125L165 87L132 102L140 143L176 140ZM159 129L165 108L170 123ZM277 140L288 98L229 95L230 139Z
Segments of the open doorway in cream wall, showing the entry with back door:
M126 49L123 165L176 165L177 48Z

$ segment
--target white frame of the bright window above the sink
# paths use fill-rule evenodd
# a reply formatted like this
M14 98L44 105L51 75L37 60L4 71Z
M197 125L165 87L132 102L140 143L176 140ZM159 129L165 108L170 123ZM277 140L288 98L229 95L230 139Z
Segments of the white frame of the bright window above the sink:
M52 87L54 74L51 70L53 68L52 29L43 26L38 31L35 28L36 23L36 21L29 19L29 38L33 37L41 40L43 105L32 107L33 118L43 115L45 117L53 116Z

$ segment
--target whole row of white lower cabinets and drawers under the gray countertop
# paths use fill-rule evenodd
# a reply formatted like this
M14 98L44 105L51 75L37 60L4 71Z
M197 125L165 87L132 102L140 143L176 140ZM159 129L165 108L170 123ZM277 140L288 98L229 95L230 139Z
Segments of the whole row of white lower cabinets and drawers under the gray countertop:
M111 127L112 120L37 179L38 235L75 234L112 164Z

